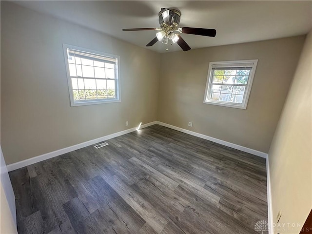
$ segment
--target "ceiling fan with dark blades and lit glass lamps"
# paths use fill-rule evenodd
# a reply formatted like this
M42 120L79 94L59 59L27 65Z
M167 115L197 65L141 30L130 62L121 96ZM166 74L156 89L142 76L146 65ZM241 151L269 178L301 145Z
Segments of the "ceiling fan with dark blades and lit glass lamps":
M161 11L158 14L160 28L124 28L122 31L159 31L156 33L156 38L151 40L146 46L152 46L158 40L164 44L168 44L168 42L171 41L172 44L177 43L183 51L188 51L191 49L191 47L185 42L185 40L182 39L179 34L175 32L215 37L215 29L178 27L180 17L181 12L176 9L161 8Z

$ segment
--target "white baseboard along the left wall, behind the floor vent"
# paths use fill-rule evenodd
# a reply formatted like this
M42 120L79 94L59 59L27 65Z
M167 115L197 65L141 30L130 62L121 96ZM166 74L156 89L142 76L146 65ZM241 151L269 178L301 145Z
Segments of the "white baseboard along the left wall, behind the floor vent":
M146 123L146 124L142 124L140 126L140 129L141 128L146 128L146 127L151 126L151 125L154 125L154 124L156 124L156 122L157 121ZM43 160L46 160L46 159L49 159L49 158L52 158L52 157L63 155L63 154L72 152L74 150L81 149L81 148L89 146L89 145L97 144L98 142L101 142L101 141L104 141L104 140L108 140L108 139L111 139L111 138L114 138L114 137L119 137L121 135L125 135L127 133L134 132L136 130L137 130L137 127L130 128L130 129L127 129L127 130L124 130L124 131L121 131L121 132L117 132L117 133L113 133L113 134L110 134L110 135L107 135L107 136L104 136L104 137L99 137L97 139L85 141L85 142L82 142L80 144L72 145L72 146L69 146L69 147L66 147L66 148L63 148L63 149L60 149L60 150L56 150L56 151L53 151L53 152L50 152L50 153L47 153L47 154L43 154L43 155L35 156L35 157L29 158L29 159L25 159L25 160L22 160L22 161L19 161L19 162L15 162L15 163L7 165L6 167L7 167L7 170L9 172L10 171L14 171L16 169L19 169L19 168L22 168L22 167L25 167L25 166L28 166L28 165L31 165L31 164L34 164L34 163L37 163L37 162L41 162Z

